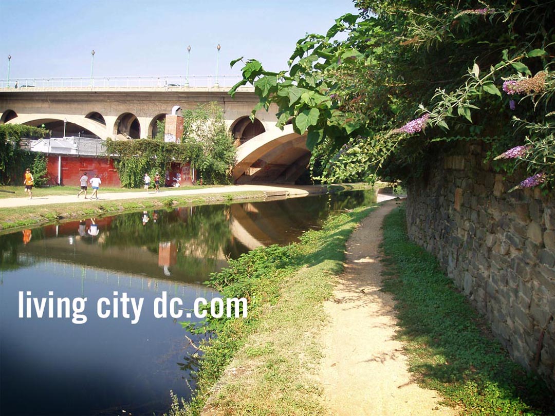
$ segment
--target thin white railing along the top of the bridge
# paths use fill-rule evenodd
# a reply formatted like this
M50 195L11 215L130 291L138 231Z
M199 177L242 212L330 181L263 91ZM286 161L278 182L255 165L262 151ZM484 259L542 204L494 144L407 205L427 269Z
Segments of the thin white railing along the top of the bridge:
M145 77L73 77L73 78L4 78L2 90L36 89L154 89L179 90L186 88L230 88L241 79L240 75L153 75Z

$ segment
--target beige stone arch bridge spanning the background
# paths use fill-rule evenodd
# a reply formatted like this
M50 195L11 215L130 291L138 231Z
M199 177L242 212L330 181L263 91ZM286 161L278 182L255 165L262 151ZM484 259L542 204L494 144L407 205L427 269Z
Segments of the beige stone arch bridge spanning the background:
M153 137L158 121L175 105L193 109L197 104L217 102L238 145L233 179L236 183L294 183L306 170L310 151L306 137L290 125L282 131L275 126L276 108L259 111L249 119L258 97L253 89L242 88L234 98L227 88L0 89L0 124L44 126L52 137L83 136L105 140Z

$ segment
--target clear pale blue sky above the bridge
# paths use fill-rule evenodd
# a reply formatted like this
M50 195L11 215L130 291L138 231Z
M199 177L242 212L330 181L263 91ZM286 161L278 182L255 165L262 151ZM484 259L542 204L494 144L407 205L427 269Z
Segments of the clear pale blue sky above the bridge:
M0 78L239 74L287 68L306 33L357 13L352 0L0 0Z

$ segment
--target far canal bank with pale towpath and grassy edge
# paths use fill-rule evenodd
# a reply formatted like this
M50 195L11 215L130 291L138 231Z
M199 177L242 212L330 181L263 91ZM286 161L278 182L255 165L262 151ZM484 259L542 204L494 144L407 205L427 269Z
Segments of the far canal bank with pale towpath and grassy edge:
M222 201L303 197L362 189L372 189L372 187L368 184L229 185L201 189L163 189L160 192L108 192L103 194L100 190L98 200L84 200L73 195L41 196L33 199L4 198L0 199L0 233L56 221L116 214L117 212L170 208L179 205L204 205Z

